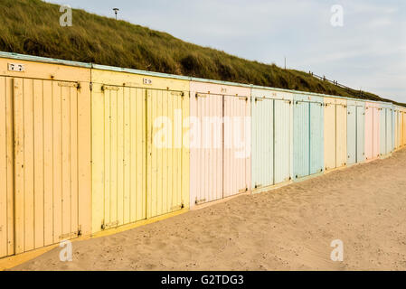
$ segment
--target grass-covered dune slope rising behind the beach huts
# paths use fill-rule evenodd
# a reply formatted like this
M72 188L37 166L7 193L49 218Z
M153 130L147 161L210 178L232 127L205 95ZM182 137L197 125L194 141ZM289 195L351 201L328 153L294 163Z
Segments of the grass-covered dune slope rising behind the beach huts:
M357 95L355 90L341 89L302 71L247 61L83 10L73 11L71 27L61 27L60 16L59 5L2 0L0 50L343 97ZM383 100L371 93L364 98Z

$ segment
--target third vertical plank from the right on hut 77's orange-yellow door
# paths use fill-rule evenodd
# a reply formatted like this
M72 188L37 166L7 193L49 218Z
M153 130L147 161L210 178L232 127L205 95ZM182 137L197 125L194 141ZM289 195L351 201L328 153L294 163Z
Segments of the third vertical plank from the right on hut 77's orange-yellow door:
M52 81L53 103L53 243L62 235L62 101L61 87Z

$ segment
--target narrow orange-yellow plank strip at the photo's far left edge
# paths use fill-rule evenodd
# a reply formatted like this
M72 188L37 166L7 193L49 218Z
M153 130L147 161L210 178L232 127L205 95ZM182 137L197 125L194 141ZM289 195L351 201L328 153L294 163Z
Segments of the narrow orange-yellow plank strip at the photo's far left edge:
M0 258L7 256L7 135L5 77L0 77Z

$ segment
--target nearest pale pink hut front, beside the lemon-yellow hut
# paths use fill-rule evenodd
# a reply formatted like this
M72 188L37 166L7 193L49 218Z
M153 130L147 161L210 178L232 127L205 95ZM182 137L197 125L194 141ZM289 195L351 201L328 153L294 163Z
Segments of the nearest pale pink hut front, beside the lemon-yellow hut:
M190 93L191 206L249 191L250 89L192 81Z

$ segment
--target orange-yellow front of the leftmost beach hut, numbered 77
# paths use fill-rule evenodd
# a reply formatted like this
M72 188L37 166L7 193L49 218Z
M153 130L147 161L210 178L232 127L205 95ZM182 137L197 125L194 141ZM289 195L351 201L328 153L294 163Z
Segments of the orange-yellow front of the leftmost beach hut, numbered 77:
M0 109L0 257L89 235L90 70L0 59Z

